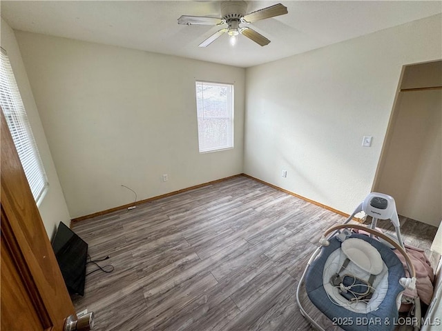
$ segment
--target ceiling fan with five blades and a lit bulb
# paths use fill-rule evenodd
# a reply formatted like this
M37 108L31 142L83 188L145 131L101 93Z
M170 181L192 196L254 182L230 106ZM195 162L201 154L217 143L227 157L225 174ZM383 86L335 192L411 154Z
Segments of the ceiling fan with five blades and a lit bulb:
M178 19L178 24L186 24L191 26L193 24L205 25L205 26L222 26L227 24L227 28L222 28L209 38L200 43L200 47L209 46L213 41L222 36L222 34L229 34L231 37L231 43L234 45L238 34L242 34L245 37L255 41L260 46L266 46L270 43L269 39L264 37L262 34L256 32L255 30L242 26L240 24L249 24L261 19L269 19L271 17L276 17L279 15L287 14L287 7L282 6L278 3L267 8L262 8L246 14L247 3L245 1L222 1L221 2L221 17L204 17L204 16L187 16L182 15Z

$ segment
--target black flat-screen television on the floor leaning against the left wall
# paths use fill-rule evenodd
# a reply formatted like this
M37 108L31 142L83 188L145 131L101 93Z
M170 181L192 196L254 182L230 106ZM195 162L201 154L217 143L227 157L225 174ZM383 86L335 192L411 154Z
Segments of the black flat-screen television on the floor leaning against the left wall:
M52 239L52 248L68 292L84 295L88 256L86 241L77 236L63 222L60 222L55 237Z

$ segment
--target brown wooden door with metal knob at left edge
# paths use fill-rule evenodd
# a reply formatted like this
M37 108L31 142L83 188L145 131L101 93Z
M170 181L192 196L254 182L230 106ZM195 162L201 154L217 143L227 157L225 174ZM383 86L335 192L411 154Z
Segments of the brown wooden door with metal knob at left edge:
M1 331L62 331L75 310L1 112Z

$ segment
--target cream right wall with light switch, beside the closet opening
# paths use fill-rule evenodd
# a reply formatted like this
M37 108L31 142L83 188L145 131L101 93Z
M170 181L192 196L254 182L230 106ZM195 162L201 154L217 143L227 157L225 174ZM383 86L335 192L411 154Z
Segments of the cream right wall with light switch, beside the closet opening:
M248 68L244 172L352 212L372 190L403 65L440 59L441 41L436 15Z

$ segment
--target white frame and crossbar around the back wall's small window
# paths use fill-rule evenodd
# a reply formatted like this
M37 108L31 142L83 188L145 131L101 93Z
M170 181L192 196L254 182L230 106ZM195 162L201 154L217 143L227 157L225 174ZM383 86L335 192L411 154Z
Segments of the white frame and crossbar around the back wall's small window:
M228 142L227 145L224 146L215 146L213 148L202 148L202 132L200 132L200 119L204 117L204 106L201 110L203 116L199 116L200 110L198 106L198 84L206 84L207 86L226 86L230 89L230 95L227 97L227 102L231 103L229 105L230 114L227 116L212 116L212 117L206 117L206 120L213 120L213 119L226 119L227 120L227 128L228 128ZM235 134L234 134L234 114L235 114L235 84L234 83L224 83L219 81L203 81L200 79L195 80L195 101L196 101L196 114L197 114L197 130L198 130L198 151L200 154L204 153L210 153L210 152L218 152L222 150L231 150L235 146ZM203 101L204 102L204 101ZM230 116L229 116L230 115Z

